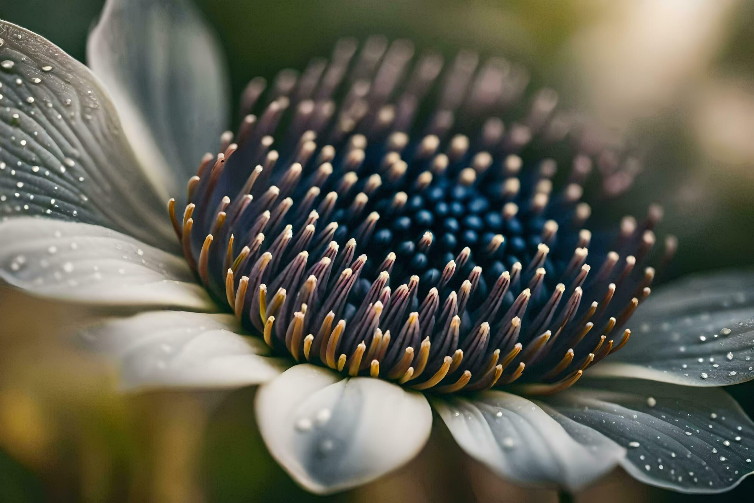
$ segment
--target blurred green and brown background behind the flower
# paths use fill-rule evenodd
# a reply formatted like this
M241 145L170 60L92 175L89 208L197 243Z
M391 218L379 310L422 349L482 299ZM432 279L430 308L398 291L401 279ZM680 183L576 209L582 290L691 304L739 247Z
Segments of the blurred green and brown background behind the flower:
M197 0L231 69L302 69L337 38L382 33L452 56L504 55L640 146L645 173L616 216L649 201L679 236L672 276L754 262L751 0ZM0 0L0 17L79 60L103 0ZM112 370L64 334L96 313L0 289L0 501L311 501L266 453L253 389L116 394ZM728 388L754 416L754 383ZM578 462L578 460L575 460ZM754 477L717 501L749 501ZM496 479L443 428L397 474L333 501L556 501ZM577 501L703 501L615 471Z

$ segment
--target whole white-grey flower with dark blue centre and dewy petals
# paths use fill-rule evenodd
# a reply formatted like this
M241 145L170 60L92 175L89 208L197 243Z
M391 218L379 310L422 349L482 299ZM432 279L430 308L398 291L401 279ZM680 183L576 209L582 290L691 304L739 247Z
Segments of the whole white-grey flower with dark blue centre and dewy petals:
M667 287L631 336L661 210L592 233L581 198L593 179L624 193L636 161L579 134L551 90L523 108L516 66L461 52L440 78L413 52L342 41L266 94L251 81L222 133L222 59L186 2L109 0L94 73L0 22L0 276L130 311L82 333L124 388L263 383L265 443L313 492L409 461L431 406L519 483L575 491L621 465L683 492L735 486L754 423L718 387L754 376L751 276ZM500 106L518 121L482 119ZM572 157L565 183L549 155Z

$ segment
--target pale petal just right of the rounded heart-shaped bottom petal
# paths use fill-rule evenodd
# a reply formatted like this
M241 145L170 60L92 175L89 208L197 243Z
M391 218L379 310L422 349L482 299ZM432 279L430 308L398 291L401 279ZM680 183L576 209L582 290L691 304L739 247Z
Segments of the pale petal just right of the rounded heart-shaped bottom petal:
M436 397L432 405L464 451L515 483L576 491L625 455L593 429L504 391Z

